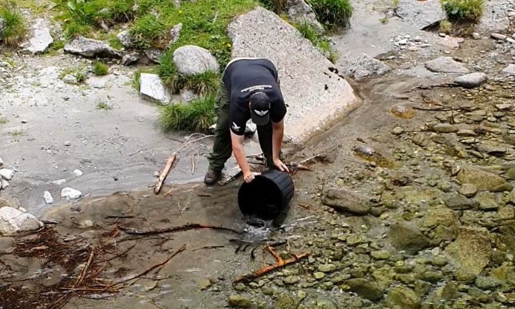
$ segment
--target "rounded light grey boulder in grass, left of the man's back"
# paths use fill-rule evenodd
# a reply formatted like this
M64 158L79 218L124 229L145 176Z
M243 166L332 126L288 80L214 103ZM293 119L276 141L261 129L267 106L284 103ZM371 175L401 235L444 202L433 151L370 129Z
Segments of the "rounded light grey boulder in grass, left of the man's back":
M185 45L175 49L174 63L179 73L185 75L218 71L220 68L209 50L195 45Z

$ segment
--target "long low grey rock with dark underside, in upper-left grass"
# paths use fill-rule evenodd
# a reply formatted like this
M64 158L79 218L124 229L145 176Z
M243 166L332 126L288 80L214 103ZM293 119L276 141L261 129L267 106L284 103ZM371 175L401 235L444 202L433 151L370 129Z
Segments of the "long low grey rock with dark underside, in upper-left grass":
M65 45L65 52L93 58L122 58L122 52L114 49L102 41L78 36Z

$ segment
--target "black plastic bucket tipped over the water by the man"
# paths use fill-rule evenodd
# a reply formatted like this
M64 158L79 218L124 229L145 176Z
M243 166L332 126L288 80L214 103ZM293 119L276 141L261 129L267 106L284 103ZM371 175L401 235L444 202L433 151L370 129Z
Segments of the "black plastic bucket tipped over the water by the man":
M290 174L267 170L238 191L238 205L246 217L274 220L290 203L295 187Z

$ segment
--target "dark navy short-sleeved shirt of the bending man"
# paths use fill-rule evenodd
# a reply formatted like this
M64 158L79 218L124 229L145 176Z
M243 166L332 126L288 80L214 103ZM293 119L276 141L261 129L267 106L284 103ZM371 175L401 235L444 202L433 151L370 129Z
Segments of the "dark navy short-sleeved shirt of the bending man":
M271 101L270 117L280 122L286 115L286 105L279 88L277 69L270 60L241 59L227 66L222 78L231 96L229 126L236 135L244 135L247 121L251 118L249 97L264 92Z

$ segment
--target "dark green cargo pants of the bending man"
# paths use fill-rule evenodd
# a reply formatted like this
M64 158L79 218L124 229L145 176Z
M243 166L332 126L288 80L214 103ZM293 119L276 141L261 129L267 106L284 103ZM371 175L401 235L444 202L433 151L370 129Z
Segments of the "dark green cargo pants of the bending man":
M231 96L227 93L225 84L220 80L220 88L216 93L215 111L218 119L216 120L215 139L213 150L207 156L209 168L220 171L224 168L225 162L232 155L231 130L229 128L229 106L231 106ZM265 164L267 167L273 166L272 161L272 122L266 126L258 126L258 137L260 139L261 150L263 151Z

